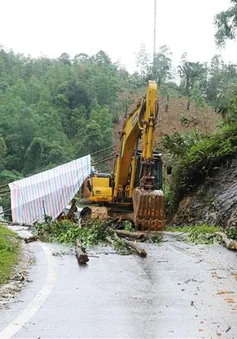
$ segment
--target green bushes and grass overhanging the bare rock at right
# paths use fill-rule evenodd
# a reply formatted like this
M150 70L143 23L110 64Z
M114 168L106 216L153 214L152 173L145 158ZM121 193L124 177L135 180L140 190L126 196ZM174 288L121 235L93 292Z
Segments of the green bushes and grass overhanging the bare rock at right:
M236 100L236 99L235 99ZM167 189L167 212L175 212L182 198L198 186L208 186L222 168L229 167L237 156L237 106L230 103L227 116L212 135L199 132L164 136L161 147L169 152L172 182Z

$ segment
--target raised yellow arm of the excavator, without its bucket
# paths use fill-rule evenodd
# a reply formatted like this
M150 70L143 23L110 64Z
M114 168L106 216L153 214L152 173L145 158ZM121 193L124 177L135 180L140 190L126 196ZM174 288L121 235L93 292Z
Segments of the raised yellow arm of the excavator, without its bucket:
M120 152L116 159L114 198L119 195L132 198L135 173L137 169L136 153L138 146L142 149L141 186L154 189L151 176L153 160L154 131L158 113L157 85L149 81L146 96L141 98L136 108L125 119L120 132ZM139 140L141 139L141 145ZM129 186L129 187L128 187Z

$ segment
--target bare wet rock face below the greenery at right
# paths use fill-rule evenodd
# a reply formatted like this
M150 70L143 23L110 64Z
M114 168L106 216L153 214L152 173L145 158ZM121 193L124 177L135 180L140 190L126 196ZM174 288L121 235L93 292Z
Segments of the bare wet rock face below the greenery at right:
M182 199L172 223L237 227L236 157L223 165L211 181L209 179Z

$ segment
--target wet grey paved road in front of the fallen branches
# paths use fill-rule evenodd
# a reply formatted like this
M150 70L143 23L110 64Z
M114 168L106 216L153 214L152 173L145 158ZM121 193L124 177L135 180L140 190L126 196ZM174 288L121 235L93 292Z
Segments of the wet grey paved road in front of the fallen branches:
M32 282L0 311L1 339L237 337L237 256L221 246L171 239L144 259L97 248L87 267L28 246Z

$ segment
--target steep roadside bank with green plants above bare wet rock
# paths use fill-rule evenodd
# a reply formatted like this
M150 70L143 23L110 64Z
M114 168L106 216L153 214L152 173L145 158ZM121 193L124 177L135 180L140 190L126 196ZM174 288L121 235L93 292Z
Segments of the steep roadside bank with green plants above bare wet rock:
M174 168L167 194L169 221L175 225L206 223L237 226L236 98L215 133L190 144L183 137L169 149ZM174 213L174 215L173 215ZM172 217L173 216L173 217Z

